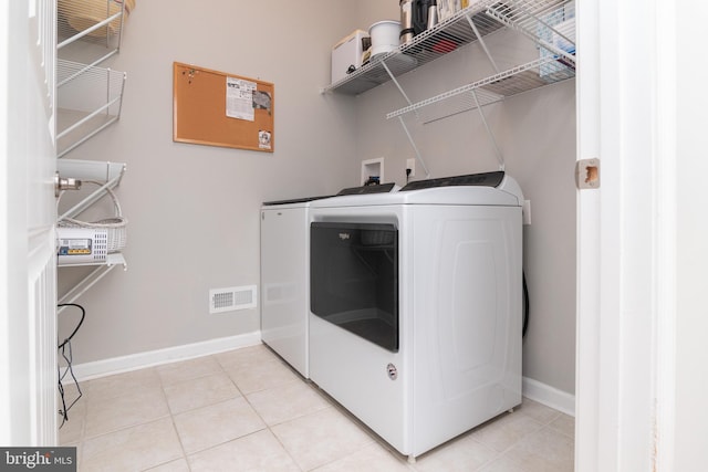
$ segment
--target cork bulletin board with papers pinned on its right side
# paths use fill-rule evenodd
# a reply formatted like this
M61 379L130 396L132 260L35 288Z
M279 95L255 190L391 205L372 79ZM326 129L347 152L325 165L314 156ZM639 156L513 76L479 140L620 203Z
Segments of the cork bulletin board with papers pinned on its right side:
M272 153L274 86L175 62L173 140Z

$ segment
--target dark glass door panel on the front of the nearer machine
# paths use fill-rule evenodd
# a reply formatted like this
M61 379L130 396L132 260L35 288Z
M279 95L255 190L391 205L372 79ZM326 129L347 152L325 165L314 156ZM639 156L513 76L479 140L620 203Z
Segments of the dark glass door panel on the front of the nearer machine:
M398 352L398 230L393 224L313 222L310 310Z

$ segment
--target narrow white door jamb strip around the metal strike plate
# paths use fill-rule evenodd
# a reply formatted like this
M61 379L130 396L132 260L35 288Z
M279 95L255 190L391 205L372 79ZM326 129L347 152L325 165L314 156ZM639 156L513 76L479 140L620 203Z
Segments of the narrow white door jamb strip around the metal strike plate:
M607 4L605 7L612 10L612 7ZM602 158L600 153L601 9L595 1L580 1L576 9L579 72L575 78L576 159ZM613 25L614 23L610 24L610 27ZM604 178L604 167L602 172ZM576 197L575 471L577 472L601 470L598 468L601 192L602 188L583 190L579 191Z

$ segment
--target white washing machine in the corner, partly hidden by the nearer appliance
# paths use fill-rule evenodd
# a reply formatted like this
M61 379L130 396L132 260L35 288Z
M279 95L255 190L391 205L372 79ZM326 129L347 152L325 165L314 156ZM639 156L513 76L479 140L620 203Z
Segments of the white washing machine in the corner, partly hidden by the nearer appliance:
M340 196L397 190L394 183L351 187L333 196L261 206L261 340L309 378L310 206Z

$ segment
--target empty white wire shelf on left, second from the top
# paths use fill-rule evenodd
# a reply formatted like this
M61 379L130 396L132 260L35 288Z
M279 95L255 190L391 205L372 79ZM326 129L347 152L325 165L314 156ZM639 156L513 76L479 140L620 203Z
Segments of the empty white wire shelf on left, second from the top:
M121 117L125 78L124 72L58 61L58 157Z

